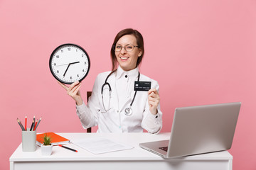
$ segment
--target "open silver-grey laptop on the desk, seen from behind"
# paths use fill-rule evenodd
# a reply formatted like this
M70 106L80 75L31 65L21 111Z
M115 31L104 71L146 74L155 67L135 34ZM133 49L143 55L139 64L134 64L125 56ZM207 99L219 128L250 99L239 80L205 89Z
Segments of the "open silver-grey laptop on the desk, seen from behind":
M241 103L176 108L170 140L139 144L166 159L230 149Z

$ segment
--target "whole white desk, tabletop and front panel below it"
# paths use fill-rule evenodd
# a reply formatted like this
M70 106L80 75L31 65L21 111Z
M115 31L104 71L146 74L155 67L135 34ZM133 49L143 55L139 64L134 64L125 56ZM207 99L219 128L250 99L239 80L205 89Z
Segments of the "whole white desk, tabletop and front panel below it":
M21 145L10 157L10 169L189 169L189 170L231 170L232 155L227 152L215 152L210 154L198 154L196 156L181 157L178 159L163 159L156 154L139 147L141 142L156 140L169 140L170 133L151 135L149 133L58 133L69 140L81 137L107 137L110 140L131 145L134 149L111 152L106 154L91 154L76 145L67 145L78 152L72 152L62 147L54 146L53 154L42 156L40 147L36 152L22 152Z

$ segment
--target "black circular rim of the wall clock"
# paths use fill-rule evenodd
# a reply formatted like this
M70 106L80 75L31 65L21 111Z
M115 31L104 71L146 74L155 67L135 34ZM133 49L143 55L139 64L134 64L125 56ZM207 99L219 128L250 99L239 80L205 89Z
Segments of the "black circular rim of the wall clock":
M82 50L82 52L85 52L85 55L86 55L87 60L88 60L88 69L87 69L87 72L86 72L85 76L83 76L81 79L78 80L78 81L81 82L83 79L85 79L85 77L87 77L87 74L88 74L89 71L90 71L90 57L89 57L88 53L85 51L85 49L83 49L80 45L75 45L75 44L73 44L73 43L66 43L66 44L59 45L58 47L56 47L55 50L53 50L53 52L52 52L51 55L50 55L50 60L49 60L50 72L51 72L51 74L53 74L53 77L54 77L55 79L57 79L58 81L60 81L60 82L63 83L63 84L73 84L73 83L75 82L75 81L73 81L73 82L67 82L67 81L63 81L62 79L59 79L59 78L55 75L55 73L53 72L53 68L52 68L52 65L51 65L51 64L52 64L53 55L55 55L55 52L56 52L57 50L59 50L60 47L63 47L63 46L66 46L66 45L72 45L72 46L78 47L78 48L80 48L80 50Z

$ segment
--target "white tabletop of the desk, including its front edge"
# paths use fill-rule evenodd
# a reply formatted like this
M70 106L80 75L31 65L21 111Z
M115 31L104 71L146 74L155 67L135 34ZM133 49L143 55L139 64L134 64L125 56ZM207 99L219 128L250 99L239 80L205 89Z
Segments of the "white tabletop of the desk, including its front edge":
M71 152L68 149L54 146L53 153L50 156L43 156L40 147L36 148L36 152L22 152L22 146L19 145L14 154L10 157L10 162L58 162L58 161L132 161L132 160L164 160L156 154L146 151L139 147L139 143L151 142L157 140L169 140L170 133L160 133L151 135L149 133L58 133L63 137L72 140L82 137L106 137L116 142L130 145L133 149L110 152L105 154L92 154L72 143L66 145L78 152ZM214 152L210 154L198 154L189 157L180 157L172 160L230 160L233 157L228 151Z

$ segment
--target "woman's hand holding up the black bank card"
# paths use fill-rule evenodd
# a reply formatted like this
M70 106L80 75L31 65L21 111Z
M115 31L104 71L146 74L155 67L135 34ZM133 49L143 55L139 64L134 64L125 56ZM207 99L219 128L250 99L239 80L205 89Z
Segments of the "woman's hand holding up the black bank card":
M159 105L160 97L156 89L150 89L148 91L148 101L149 101L149 111L156 115L157 113L157 106Z

